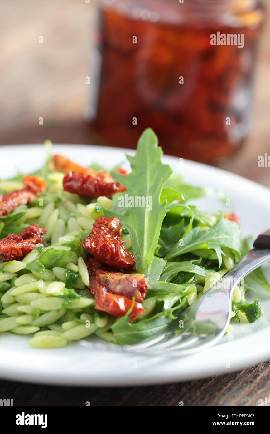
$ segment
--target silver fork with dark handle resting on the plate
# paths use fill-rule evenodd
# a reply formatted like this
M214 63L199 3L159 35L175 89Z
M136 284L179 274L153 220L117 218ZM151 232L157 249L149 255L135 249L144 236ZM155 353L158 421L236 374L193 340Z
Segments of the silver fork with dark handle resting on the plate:
M247 274L270 260L270 230L259 235L250 250L217 284L185 309L167 329L135 345L118 346L79 341L81 345L141 355L186 356L215 345L231 319L235 287Z

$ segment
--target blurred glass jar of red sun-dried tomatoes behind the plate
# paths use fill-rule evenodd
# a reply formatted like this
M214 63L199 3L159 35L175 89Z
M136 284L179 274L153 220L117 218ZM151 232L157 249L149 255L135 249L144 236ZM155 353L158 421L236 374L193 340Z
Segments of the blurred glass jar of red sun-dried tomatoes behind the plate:
M257 0L99 0L86 116L99 143L232 155L248 131L264 9Z

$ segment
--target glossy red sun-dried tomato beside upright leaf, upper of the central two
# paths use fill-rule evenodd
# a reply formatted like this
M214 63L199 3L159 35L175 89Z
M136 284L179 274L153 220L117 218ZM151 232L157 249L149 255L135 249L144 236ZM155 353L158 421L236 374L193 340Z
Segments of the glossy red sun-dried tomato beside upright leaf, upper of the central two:
M121 235L122 227L117 217L99 217L82 245L102 263L132 273L135 269L135 258L123 247Z

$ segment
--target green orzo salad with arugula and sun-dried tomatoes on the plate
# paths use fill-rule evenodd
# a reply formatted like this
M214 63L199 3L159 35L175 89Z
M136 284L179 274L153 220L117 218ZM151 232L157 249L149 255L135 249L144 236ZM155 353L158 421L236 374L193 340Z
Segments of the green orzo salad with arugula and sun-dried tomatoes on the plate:
M237 214L192 204L224 196L163 164L150 128L126 155L129 171L46 148L39 171L0 181L0 332L29 335L40 349L93 334L135 344L177 322L249 249ZM263 315L258 299L245 300L254 281L270 292L260 268L247 276L231 323Z

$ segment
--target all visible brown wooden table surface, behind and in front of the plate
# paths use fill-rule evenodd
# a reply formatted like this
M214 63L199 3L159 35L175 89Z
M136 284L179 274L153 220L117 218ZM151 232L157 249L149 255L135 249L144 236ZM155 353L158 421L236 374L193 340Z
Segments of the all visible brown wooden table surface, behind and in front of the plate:
M81 115L85 105L84 79L88 75L85 59L91 13L88 14L88 4L84 2L66 0L65 8L60 3L13 0L12 6L11 2L3 5L3 16L12 15L12 20L6 20L0 43L3 61L0 82L6 84L1 97L2 145L39 143L46 138L56 143L93 143ZM43 46L36 43L39 35L44 35ZM258 167L257 158L264 153L270 155L269 53L268 22L260 49L250 136L234 158L217 163L267 187L270 169ZM42 127L38 125L39 116L46 119ZM185 406L249 406L270 396L270 361L241 372L170 385L64 388L0 381L0 391L0 398L13 399L14 405L84 406L85 401L90 401L91 405L106 406L177 406L183 401Z

